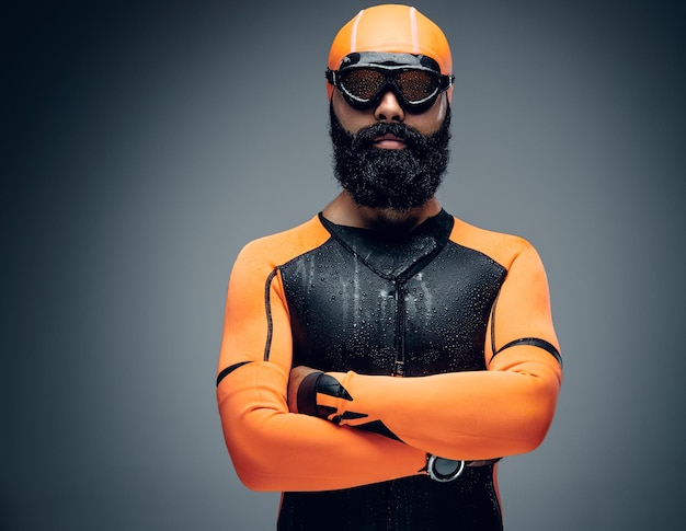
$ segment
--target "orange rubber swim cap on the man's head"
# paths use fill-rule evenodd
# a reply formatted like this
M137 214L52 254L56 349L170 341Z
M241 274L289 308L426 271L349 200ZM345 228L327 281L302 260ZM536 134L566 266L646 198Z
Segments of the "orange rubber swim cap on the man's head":
M329 50L329 68L338 70L341 60L353 51L395 51L425 55L453 73L450 46L443 31L415 8L384 4L363 9L336 34ZM327 83L329 100L333 85ZM453 89L448 90L450 99Z

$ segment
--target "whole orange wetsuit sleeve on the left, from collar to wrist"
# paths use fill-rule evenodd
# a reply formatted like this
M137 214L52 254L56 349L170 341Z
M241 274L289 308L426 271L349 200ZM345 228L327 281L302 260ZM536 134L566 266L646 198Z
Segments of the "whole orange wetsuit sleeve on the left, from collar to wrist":
M288 308L277 266L321 243L305 229L247 245L229 280L217 401L227 448L245 486L323 490L416 474L423 451L386 437L288 412Z

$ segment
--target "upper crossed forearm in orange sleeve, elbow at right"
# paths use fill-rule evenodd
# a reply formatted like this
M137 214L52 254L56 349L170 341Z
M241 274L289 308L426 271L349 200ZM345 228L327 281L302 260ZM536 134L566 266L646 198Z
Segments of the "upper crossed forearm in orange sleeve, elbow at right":
M498 362L489 371L421 378L328 373L345 391L317 393L316 412L344 426L381 422L409 446L450 459L530 451L552 420L559 365L535 349L526 360L502 355Z

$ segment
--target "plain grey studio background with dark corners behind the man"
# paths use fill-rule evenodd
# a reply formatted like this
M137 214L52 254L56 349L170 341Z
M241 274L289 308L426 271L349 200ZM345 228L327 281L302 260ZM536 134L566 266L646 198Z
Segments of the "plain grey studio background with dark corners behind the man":
M322 72L366 5L5 2L0 528L274 528L216 411L225 290L338 192ZM457 74L441 199L537 246L563 347L506 529L676 529L684 3L415 5Z

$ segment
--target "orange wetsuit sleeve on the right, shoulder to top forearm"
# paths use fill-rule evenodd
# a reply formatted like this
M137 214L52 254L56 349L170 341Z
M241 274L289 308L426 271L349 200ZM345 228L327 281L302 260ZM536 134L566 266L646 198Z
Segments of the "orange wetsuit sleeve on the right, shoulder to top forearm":
M335 409L330 418L341 425L381 420L408 445L448 459L492 459L539 446L561 385L558 358L529 344L492 356L522 338L542 339L559 350L542 264L534 247L515 243L489 323L488 370L416 378L329 372L347 395L319 393L317 405Z

